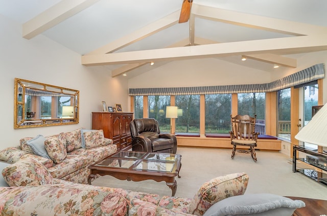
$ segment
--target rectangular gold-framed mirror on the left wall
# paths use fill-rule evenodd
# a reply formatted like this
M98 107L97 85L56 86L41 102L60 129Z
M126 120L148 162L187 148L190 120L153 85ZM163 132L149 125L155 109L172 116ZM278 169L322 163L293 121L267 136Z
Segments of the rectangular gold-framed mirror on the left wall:
M15 78L14 128L79 123L79 91Z

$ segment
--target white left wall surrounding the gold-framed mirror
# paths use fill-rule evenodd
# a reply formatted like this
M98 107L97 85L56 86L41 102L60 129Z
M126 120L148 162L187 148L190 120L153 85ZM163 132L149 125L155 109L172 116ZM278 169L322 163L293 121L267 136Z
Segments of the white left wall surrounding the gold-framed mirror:
M39 35L31 40L21 37L21 25L0 15L0 149L19 145L22 137L48 136L79 127L91 128L91 112L121 103L127 111L128 88L125 77L111 78L104 67L85 67L81 56ZM80 123L64 126L13 128L14 78L80 91Z

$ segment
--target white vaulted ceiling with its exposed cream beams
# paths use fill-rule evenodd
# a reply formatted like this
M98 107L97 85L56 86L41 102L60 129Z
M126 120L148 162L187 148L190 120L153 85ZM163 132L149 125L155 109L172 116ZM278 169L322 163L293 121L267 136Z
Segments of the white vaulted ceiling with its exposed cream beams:
M182 2L0 0L0 14L21 23L22 37L49 37L113 77L194 58L272 71L327 50L327 1L194 0L189 21L178 23Z

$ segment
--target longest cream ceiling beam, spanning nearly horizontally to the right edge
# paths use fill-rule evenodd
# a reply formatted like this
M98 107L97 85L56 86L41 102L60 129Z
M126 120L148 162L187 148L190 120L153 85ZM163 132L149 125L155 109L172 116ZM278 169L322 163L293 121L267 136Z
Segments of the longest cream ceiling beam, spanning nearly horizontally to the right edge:
M217 43L82 56L82 65L113 65L204 57L252 55L263 52L286 54L327 50L327 33L299 37Z

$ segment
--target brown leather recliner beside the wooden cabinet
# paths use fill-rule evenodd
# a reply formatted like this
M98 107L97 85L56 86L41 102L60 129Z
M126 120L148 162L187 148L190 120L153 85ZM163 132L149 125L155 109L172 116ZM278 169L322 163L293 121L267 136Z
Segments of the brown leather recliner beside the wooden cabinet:
M134 119L130 122L132 150L142 152L173 153L177 151L174 134L160 133L155 119Z

